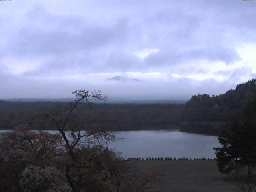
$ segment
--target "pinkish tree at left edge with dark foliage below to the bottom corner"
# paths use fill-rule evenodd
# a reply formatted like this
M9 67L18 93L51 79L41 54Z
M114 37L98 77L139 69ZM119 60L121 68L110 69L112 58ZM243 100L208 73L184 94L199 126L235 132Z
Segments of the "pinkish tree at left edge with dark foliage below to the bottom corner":
M62 158L59 134L17 126L0 134L0 191L18 191L21 172L29 165L52 165Z

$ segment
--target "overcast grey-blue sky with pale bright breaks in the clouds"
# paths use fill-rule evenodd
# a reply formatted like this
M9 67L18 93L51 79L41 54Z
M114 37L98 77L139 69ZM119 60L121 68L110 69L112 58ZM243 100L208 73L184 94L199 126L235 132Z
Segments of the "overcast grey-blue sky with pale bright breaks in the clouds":
M256 78L255 18L252 0L0 0L0 99L222 94Z

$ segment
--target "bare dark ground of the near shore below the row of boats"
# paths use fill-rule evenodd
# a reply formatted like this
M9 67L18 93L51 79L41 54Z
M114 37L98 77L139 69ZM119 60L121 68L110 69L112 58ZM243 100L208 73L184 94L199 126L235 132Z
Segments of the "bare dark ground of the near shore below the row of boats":
M167 171L152 183L158 192L240 192L230 176L220 174L216 161L140 160L135 166L137 172Z

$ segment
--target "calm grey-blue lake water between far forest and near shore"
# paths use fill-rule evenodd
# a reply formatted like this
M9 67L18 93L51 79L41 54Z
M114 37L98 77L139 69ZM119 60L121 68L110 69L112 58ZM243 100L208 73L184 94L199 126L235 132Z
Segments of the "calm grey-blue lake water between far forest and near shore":
M4 132L6 130L0 130ZM50 131L56 133L57 131ZM209 157L213 147L219 147L217 136L180 132L179 130L120 131L123 138L109 145L122 152L122 157Z

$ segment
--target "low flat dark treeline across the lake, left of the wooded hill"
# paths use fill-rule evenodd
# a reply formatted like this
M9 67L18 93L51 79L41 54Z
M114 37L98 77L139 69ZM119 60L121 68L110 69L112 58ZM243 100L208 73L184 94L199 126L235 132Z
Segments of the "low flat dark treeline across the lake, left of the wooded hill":
M0 128L13 128L30 123L34 129L52 129L40 114L68 106L68 102L6 102L0 101ZM93 104L78 106L77 120L84 125L104 124L125 130L140 125L169 125L181 120L182 104Z

